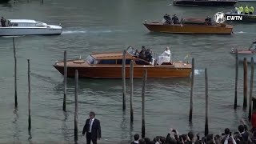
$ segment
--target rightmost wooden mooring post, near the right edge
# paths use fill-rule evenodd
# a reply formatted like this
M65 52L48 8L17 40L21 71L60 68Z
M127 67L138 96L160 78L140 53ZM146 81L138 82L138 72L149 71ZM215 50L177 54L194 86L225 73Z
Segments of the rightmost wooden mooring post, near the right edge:
M253 87L254 87L254 58L250 59L250 98L249 98L249 114L248 118L251 118L251 102L253 98Z

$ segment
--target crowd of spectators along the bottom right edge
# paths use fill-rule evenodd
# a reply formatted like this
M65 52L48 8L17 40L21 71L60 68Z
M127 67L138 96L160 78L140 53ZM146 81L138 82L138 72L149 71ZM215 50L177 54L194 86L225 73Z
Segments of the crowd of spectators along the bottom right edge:
M254 118L253 121L256 119ZM166 137L158 136L152 140L150 138L139 138L134 134L134 141L131 144L254 144L256 143L256 129L248 129L248 126L241 120L238 131L232 133L226 128L222 134L208 134L200 138L199 134L189 132L188 134L178 134L177 130L170 129ZM253 127L254 124L253 124Z

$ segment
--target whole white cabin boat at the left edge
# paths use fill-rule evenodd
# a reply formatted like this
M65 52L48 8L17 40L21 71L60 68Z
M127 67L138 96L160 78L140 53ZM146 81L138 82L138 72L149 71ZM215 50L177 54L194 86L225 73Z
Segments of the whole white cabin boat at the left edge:
M8 19L6 22L6 27L0 27L0 36L62 34L62 26L31 19Z

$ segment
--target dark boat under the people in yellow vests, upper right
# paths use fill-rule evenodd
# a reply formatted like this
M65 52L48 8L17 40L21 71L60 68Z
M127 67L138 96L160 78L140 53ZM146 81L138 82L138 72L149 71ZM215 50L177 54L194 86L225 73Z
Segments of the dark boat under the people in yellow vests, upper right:
M231 11L227 12L225 16L242 16L242 20L232 22L256 22L256 14L238 14Z

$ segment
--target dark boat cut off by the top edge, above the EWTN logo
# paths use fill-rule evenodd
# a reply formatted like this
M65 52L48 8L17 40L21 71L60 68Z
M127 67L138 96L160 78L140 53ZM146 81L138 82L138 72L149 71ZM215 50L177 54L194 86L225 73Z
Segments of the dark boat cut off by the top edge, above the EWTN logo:
M234 6L236 0L174 0L174 6Z

